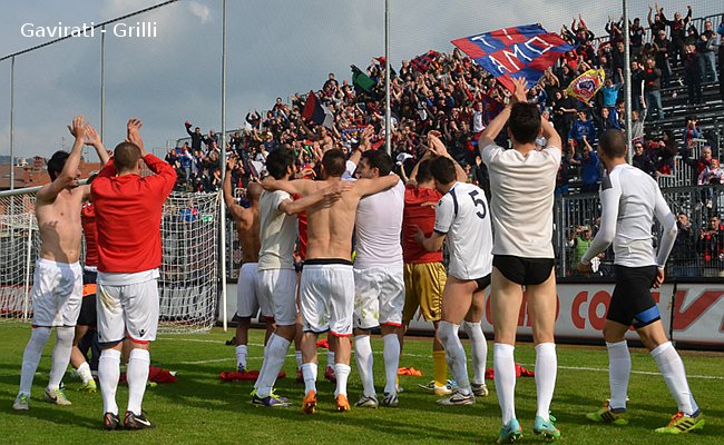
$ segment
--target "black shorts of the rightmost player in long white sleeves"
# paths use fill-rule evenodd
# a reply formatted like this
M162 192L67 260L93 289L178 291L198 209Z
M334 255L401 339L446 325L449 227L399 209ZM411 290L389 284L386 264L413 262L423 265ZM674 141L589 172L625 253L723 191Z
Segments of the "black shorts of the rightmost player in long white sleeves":
M610 298L606 319L634 326L648 326L662 318L650 288L656 280L656 266L614 266L616 287Z

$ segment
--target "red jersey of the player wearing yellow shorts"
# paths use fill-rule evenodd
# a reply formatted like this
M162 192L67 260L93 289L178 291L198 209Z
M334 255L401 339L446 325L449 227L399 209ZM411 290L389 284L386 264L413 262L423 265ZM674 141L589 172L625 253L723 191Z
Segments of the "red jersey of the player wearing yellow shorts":
M442 251L427 251L414 240L417 227L425 236L434 228L434 207L442 198L437 189L407 185L404 189L404 211L402 214L402 259L404 263L442 263ZM432 206L423 206L431 202ZM417 227L415 227L417 226Z

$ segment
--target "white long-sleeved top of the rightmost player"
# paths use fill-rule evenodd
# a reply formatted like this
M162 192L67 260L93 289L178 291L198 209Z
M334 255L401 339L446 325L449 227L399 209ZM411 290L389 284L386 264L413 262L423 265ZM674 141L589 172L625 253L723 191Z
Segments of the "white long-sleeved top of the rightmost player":
M614 263L626 267L664 267L676 240L676 217L656 181L628 164L617 165L600 184L601 222L581 263L614 243ZM654 217L664 227L664 237L654 256Z

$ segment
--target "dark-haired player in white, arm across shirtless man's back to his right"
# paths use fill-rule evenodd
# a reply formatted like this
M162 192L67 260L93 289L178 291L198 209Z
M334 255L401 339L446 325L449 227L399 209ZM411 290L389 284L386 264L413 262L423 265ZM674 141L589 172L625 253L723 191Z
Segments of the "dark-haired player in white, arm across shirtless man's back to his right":
M294 176L294 152L285 148L272 151L266 158L266 169L276 182L288 182ZM341 198L345 188L343 184L335 184L296 200L282 190L264 190L261 195L262 245L256 289L262 306L271 307L276 327L266 343L264 363L252 392L252 403L255 405L288 406L286 398L275 395L273 388L296 334L296 271L293 258L297 237L296 214L310 206L331 205Z

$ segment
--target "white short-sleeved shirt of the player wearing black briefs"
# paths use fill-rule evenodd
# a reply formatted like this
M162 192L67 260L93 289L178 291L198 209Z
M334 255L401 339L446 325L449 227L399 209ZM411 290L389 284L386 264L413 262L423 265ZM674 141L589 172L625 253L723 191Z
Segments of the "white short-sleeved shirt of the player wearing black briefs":
M493 255L555 258L554 189L560 149L548 146L524 156L491 144L480 156L490 175Z

